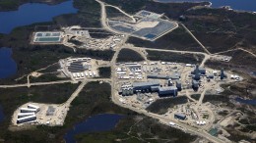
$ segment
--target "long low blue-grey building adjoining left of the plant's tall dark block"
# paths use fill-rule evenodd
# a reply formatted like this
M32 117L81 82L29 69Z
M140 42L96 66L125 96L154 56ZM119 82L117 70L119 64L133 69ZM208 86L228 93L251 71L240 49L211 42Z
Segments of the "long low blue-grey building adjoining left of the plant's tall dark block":
M148 82L134 82L133 90L136 92L137 90L146 91L151 90L151 86L160 86L159 81L148 81Z

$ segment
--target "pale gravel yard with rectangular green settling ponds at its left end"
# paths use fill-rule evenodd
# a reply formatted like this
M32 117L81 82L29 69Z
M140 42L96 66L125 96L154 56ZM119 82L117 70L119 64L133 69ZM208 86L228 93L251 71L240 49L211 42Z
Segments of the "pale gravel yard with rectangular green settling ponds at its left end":
M107 35L94 38L91 34ZM115 50L124 40L124 34L111 34L102 28L81 27L79 25L61 27L59 31L36 31L32 33L32 44L63 44L76 51L80 49Z

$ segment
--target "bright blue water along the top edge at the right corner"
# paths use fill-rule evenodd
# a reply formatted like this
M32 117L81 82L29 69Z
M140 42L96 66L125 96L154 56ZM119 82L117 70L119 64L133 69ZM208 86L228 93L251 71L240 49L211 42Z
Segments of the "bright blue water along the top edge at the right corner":
M230 6L233 10L256 12L256 0L158 0L160 2L212 2L212 7Z

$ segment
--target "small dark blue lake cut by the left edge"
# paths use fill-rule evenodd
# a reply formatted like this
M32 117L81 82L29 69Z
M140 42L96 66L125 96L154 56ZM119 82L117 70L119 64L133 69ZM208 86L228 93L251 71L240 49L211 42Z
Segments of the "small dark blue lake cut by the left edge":
M0 48L0 79L14 75L17 71L17 65L12 58L11 48Z

